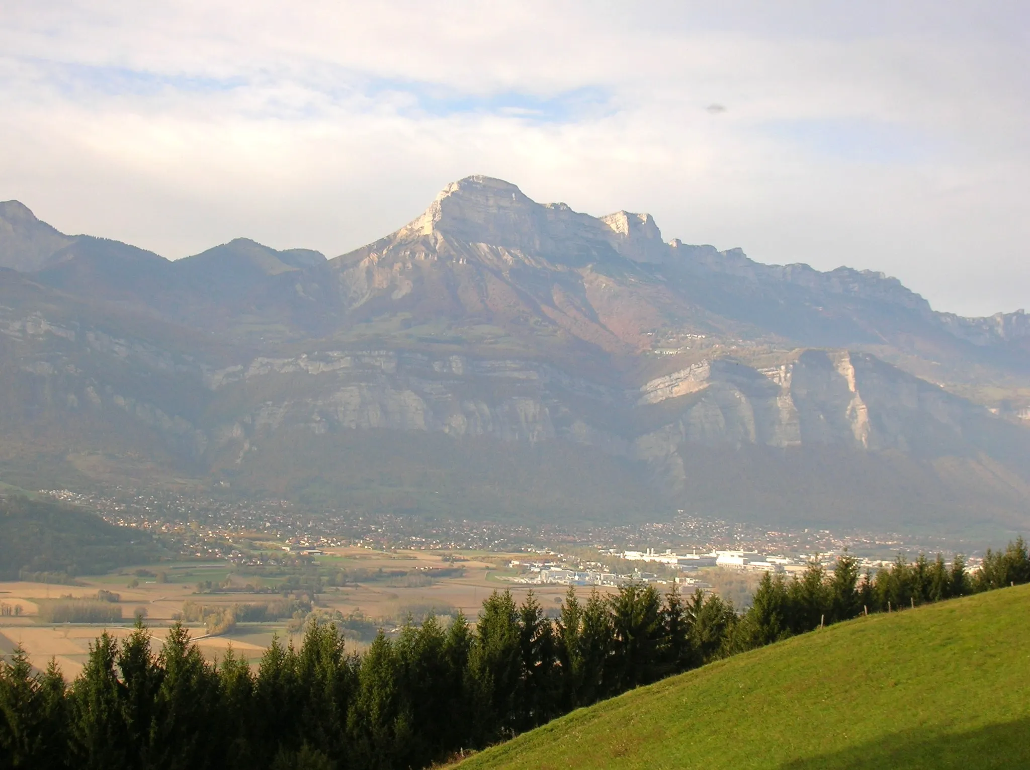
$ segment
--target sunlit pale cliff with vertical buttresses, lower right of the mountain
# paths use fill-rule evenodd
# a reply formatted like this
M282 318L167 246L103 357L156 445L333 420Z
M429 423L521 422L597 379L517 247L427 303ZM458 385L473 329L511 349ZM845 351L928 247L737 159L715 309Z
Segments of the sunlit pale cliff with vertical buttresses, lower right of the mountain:
M866 353L795 354L760 370L705 361L647 383L638 404L672 401L679 415L637 439L634 452L661 461L686 444L833 445L929 458L988 450L977 426L996 421L984 408Z

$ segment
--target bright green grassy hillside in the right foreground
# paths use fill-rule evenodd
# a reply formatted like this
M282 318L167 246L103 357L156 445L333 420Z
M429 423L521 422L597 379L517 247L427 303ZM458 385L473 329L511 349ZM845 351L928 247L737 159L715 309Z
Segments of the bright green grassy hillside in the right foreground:
M580 709L481 768L1030 766L1030 586L870 616Z

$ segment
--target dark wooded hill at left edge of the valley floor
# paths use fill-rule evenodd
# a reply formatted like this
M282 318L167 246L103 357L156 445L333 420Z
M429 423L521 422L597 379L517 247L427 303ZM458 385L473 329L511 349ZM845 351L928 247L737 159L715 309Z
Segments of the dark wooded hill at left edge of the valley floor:
M137 529L112 526L70 505L0 497L0 580L73 585L75 575L108 572L157 556L150 535Z

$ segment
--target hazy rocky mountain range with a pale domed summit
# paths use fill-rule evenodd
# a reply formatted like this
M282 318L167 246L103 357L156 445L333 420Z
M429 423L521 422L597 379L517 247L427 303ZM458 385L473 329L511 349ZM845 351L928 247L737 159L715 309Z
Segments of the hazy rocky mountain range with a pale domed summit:
M325 259L0 204L0 479L458 518L1030 523L1030 317L468 177ZM228 490L228 491L227 491Z

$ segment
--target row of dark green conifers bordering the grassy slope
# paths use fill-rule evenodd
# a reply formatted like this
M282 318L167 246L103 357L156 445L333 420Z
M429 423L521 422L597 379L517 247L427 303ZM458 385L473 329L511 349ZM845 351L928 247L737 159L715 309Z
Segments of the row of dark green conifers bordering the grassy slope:
M275 638L256 670L230 649L207 661L181 624L160 651L141 622L102 634L70 685L18 649L0 665L0 769L427 767L574 708L711 660L868 612L1030 582L1021 539L961 557L860 575L840 557L787 581L766 573L751 607L718 595L629 584L612 596L570 589L550 620L530 593L494 592L473 627L458 616L382 632L362 655L312 620L299 647Z

